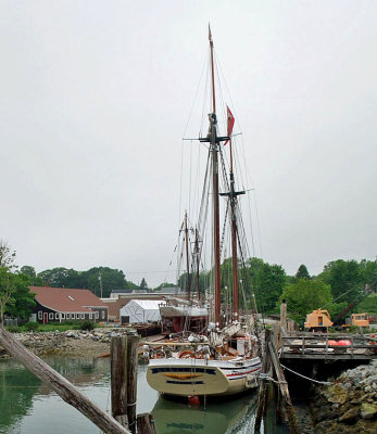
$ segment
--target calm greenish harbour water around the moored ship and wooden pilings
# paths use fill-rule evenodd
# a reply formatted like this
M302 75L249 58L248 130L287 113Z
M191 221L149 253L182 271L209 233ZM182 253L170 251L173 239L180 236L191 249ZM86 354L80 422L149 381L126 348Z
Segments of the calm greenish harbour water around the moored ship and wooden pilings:
M100 408L110 410L110 360L50 358L46 360ZM138 371L137 413L152 412L159 434L235 434L252 432L255 394L238 399L190 407L162 399L146 382L146 366ZM276 429L271 410L266 433ZM14 360L0 361L0 434L86 434L100 430L64 403Z

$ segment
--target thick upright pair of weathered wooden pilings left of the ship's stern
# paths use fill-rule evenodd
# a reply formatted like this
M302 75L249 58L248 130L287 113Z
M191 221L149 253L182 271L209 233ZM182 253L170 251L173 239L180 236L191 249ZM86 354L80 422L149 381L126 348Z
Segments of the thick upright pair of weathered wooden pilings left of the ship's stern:
M138 336L111 340L111 411L123 425L136 432Z

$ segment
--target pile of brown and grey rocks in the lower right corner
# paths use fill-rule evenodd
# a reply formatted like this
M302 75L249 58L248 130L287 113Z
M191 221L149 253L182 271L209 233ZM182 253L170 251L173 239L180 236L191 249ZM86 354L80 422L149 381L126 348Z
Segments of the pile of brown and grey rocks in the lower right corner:
M315 386L310 406L314 433L377 433L377 360L349 369L329 382Z

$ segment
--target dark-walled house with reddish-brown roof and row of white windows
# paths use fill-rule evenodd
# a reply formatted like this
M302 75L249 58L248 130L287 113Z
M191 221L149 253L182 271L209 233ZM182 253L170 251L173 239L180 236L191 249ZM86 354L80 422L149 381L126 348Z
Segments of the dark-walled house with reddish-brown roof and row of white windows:
M38 322L108 321L108 306L89 290L30 286Z

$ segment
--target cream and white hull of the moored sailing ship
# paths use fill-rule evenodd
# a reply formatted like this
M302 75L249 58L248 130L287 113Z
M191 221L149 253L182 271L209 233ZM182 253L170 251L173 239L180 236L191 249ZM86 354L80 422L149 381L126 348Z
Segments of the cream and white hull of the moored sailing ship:
M257 386L261 359L151 359L148 384L155 391L177 396L236 395Z

